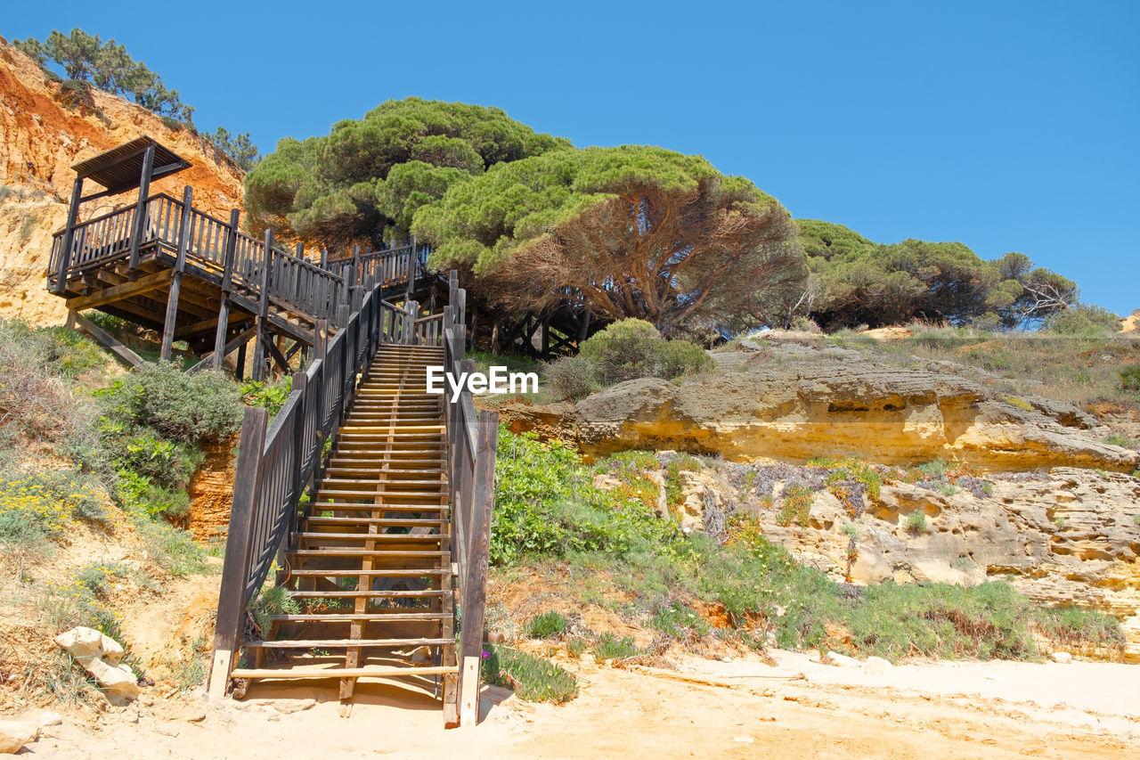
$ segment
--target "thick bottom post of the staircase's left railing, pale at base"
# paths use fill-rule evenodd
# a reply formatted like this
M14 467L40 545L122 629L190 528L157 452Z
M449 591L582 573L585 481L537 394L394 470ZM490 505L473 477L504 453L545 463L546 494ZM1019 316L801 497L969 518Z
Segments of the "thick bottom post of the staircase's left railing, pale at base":
M245 613L245 582L250 572L250 541L253 535L253 509L261 479L261 451L266 444L266 410L246 406L238 440L234 500L229 510L229 534L222 561L218 618L214 623L213 663L210 669L210 696L222 697L234 666L237 637Z

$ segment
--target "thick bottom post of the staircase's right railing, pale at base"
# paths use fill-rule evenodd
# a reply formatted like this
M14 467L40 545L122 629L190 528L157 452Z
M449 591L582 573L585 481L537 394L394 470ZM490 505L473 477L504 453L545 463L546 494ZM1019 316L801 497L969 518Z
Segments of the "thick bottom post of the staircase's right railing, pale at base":
M487 565L490 555L491 509L495 504L495 452L498 447L498 412L479 413L479 437L475 447L475 469L472 474L474 488L472 500L465 507L471 509L471 548L467 566L462 568L466 577L463 582L463 630L459 632L459 662L466 665L469 657L482 657L483 612L487 605ZM471 681L474 681L472 685ZM459 672L461 725L472 725L479 720L479 669L469 673L466 666ZM472 705L465 698L474 694Z

